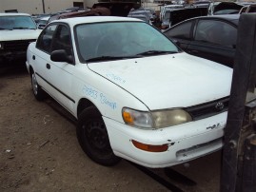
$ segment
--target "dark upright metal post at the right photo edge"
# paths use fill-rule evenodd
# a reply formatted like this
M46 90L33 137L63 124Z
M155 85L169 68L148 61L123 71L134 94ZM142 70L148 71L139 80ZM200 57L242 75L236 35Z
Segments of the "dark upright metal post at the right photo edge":
M223 149L221 192L256 191L256 15L242 14Z

